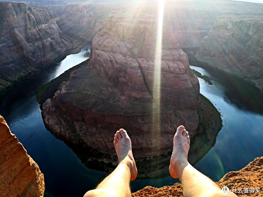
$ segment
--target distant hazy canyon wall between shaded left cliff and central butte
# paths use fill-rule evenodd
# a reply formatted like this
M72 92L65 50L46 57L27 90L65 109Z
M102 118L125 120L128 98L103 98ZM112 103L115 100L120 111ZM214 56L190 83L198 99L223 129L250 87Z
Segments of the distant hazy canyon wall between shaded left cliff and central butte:
M92 42L102 27L103 20L112 11L111 5L61 5L49 6L58 27L64 34Z

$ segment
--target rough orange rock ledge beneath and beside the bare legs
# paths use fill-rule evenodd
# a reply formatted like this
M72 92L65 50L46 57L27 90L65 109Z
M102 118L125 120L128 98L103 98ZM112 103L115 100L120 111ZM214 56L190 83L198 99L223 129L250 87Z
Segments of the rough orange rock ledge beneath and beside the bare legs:
M250 162L245 168L236 172L229 172L216 184L220 187L228 187L230 192L234 192L237 196L262 196L263 193L263 157L257 157ZM180 183L173 186L164 186L162 188L154 188L146 186L145 188L132 193L132 197L141 196L178 196L183 197L183 188Z

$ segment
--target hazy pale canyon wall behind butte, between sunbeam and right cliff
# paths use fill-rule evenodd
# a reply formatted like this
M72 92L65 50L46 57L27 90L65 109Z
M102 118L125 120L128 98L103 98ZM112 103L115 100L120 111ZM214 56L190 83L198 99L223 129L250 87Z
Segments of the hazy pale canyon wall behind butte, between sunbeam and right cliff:
M200 3L200 6L188 8L165 8L164 25L173 33L181 48L199 48L203 38L213 28L216 18L223 14L220 10L210 10L209 4L206 6Z

